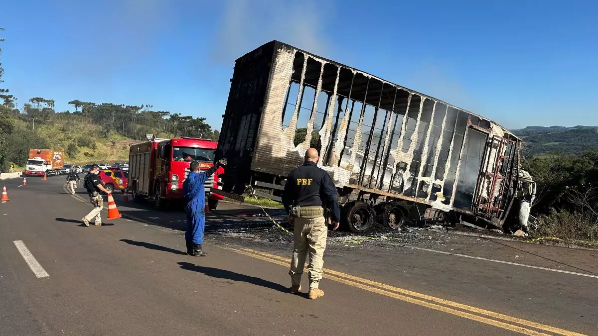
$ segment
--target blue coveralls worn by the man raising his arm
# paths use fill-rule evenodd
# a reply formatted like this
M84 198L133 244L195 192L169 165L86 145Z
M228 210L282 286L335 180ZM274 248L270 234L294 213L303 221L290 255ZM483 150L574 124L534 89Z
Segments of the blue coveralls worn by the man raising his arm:
M185 210L187 211L187 230L185 231L185 240L193 240L195 244L203 243L203 230L206 225L206 192L204 184L212 173L191 172L185 182L183 182L183 197L189 201Z

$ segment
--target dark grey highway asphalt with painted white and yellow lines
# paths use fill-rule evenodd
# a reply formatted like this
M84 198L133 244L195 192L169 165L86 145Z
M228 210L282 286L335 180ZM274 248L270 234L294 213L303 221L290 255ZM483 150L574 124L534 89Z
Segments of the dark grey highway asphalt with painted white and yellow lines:
M83 227L87 196L63 176L2 184L0 335L598 334L596 251L335 233L325 296L308 300L286 289L290 236L255 207L221 203L197 258L180 210L115 193L123 218Z

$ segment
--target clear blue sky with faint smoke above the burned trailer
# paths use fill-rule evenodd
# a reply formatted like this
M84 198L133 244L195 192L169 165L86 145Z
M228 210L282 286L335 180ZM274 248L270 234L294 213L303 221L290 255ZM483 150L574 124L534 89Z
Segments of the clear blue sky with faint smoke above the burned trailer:
M234 60L279 39L508 128L598 125L595 1L7 1L3 87L221 125Z

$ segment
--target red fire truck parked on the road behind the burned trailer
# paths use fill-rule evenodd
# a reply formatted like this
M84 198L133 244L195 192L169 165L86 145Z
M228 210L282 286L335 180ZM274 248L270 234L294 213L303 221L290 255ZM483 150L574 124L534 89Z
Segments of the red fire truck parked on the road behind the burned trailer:
M182 201L183 182L189 176L192 161L198 161L200 170L214 164L218 143L210 139L181 137L158 139L147 135L148 140L132 143L129 148L129 186L133 199L151 198L154 206L161 208L170 201ZM206 198L210 209L216 209L224 198L212 193L222 189L224 169L219 167L206 181Z

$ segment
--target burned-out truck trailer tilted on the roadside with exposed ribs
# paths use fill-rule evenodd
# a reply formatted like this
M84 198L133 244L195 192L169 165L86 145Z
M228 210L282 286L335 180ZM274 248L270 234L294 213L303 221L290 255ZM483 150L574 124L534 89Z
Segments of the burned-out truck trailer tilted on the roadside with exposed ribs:
M228 158L224 191L251 185L280 201L286 176L315 147L354 232L409 220L527 224L520 212L529 214L533 181L520 167L520 139L291 45L271 41L236 60L223 117L215 160Z

